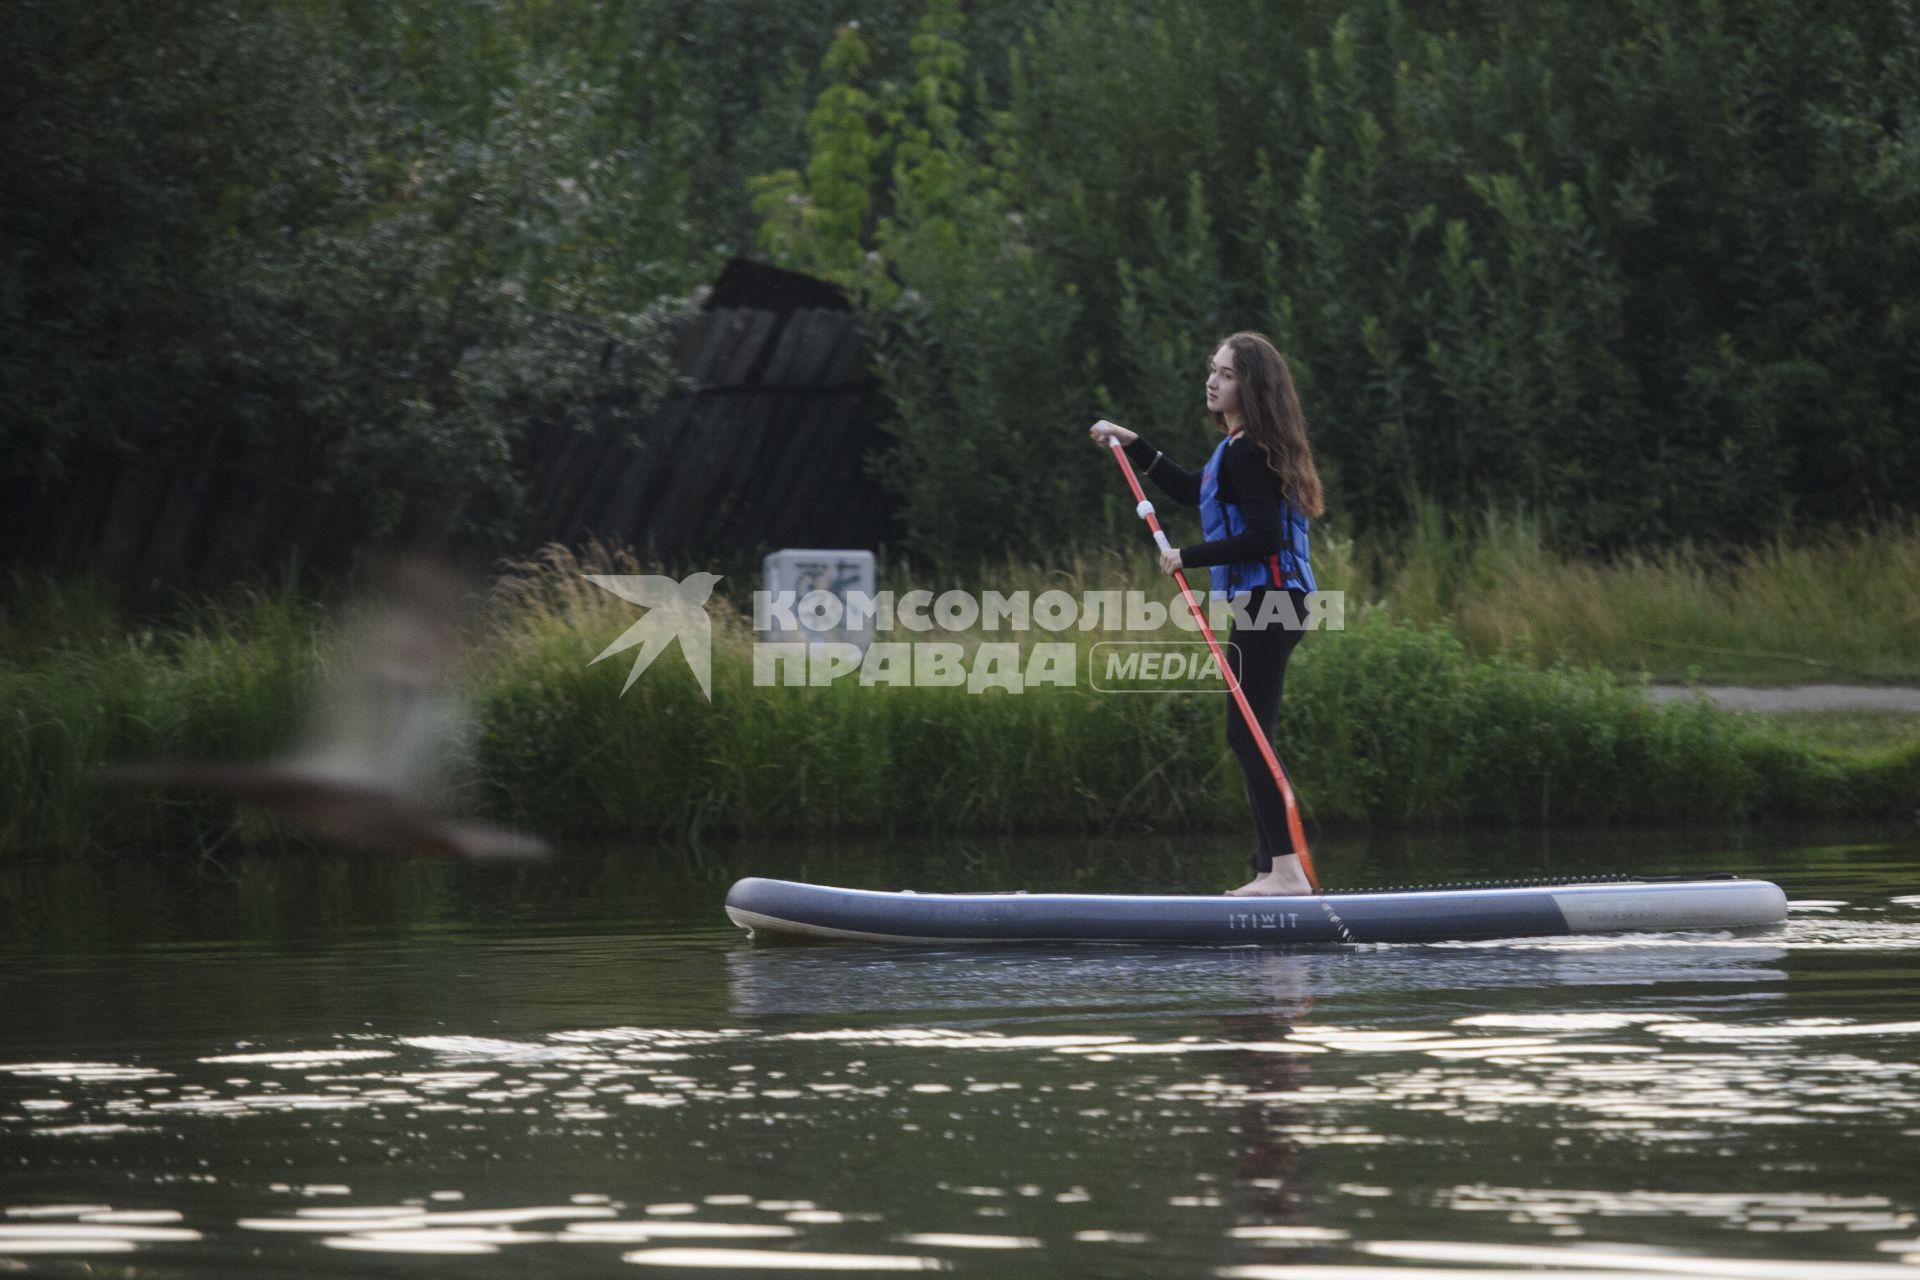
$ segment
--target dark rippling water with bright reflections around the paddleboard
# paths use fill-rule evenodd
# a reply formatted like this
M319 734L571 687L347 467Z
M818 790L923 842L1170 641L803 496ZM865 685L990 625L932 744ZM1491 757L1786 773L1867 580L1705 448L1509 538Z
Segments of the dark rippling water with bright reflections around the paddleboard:
M0 871L0 1272L1920 1280L1920 839L1329 842L1764 873L1784 931L762 948L749 871L1217 889L1169 842ZM1213 844L1219 844L1217 841ZM1365 1268L1365 1270L1359 1270Z

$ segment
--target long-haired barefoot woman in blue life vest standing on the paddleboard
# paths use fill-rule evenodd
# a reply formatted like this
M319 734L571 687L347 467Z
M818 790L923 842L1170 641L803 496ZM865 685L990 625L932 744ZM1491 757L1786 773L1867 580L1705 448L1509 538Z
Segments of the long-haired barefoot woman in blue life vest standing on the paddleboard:
M1150 476L1167 497L1200 509L1206 541L1164 553L1160 570L1210 568L1213 593L1233 601L1227 662L1260 720L1260 731L1271 741L1286 658L1300 643L1296 620L1304 614L1308 591L1315 589L1308 520L1323 510L1321 482L1292 372L1261 334L1240 332L1219 345L1208 365L1206 407L1227 438L1198 474L1181 470L1114 422L1096 422L1092 438L1096 443L1117 439L1140 474ZM1269 593L1279 591L1288 599L1269 604ZM1311 892L1288 839L1279 783L1233 699L1227 700L1227 745L1246 775L1258 841L1254 879L1229 892Z

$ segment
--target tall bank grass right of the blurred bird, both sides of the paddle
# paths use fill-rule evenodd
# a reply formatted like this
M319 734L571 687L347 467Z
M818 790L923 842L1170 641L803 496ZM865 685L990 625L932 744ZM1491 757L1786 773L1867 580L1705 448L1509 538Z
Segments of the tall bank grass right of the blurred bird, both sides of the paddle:
M1244 821L1217 693L1116 697L1085 679L1020 695L851 677L762 687L753 635L728 614L714 628L712 704L678 658L622 697L626 664L588 660L632 610L582 570L549 553L503 583L480 679L480 770L499 779L515 818L541 829L678 839ZM1102 555L983 578L1002 591L1167 589L1144 560ZM1085 672L1100 633L1073 637ZM1386 608L1356 610L1350 629L1302 643L1277 737L1323 819L1884 814L1920 794L1920 745L1845 758L1703 700L1653 706L1605 672L1475 656L1444 628Z

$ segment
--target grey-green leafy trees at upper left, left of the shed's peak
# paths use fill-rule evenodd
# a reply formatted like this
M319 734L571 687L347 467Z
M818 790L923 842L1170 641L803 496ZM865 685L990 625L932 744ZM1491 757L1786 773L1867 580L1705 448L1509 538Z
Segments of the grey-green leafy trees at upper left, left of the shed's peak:
M503 535L528 420L662 390L824 8L10 6L0 478L244 430Z

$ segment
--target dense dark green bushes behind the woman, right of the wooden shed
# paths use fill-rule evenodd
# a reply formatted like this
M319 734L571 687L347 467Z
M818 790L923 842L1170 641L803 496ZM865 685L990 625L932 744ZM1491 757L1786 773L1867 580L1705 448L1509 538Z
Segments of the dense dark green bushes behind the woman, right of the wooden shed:
M927 23L947 15L931 4ZM918 286L887 236L914 207L912 165L895 165L862 171L868 213L835 232L895 351L889 478L924 551L1044 555L1064 509L1096 520L1098 491L1056 472L1052 436L1098 415L1198 457L1204 359L1231 328L1288 353L1331 510L1356 533L1404 532L1423 495L1524 510L1551 547L1605 551L1912 509L1905 12L1553 0L1469 21L1400 0L1056 0L1029 15L1000 81L972 98L956 65L937 81L956 111L943 173L989 155L991 184L952 190L1018 230L939 242L966 261ZM856 84L849 71L829 92ZM812 163L883 150L893 117L860 119L814 136ZM852 209L852 169L828 169ZM900 288L929 319L902 326ZM922 447L929 422L945 449ZM981 493L1021 520L941 518L943 499Z

